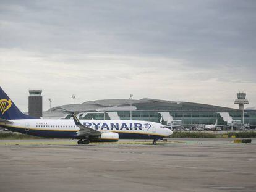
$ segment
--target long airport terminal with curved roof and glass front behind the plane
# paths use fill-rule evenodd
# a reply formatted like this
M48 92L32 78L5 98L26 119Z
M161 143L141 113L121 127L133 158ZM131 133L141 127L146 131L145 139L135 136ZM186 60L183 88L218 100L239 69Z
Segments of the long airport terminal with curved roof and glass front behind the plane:
M228 107L198 104L193 102L174 102L158 99L105 99L67 104L53 107L43 112L43 118L70 119L75 110L79 119L148 120L162 122L164 125L197 127L202 124L256 127L256 110L239 110Z

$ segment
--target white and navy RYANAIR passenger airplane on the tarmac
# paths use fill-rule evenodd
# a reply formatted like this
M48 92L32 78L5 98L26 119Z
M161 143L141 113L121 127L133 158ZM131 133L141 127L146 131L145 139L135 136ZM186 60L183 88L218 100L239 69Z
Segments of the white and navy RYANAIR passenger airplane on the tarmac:
M121 139L162 140L173 134L160 123L137 120L36 119L25 115L0 87L0 127L46 138L72 138L77 144L113 142Z

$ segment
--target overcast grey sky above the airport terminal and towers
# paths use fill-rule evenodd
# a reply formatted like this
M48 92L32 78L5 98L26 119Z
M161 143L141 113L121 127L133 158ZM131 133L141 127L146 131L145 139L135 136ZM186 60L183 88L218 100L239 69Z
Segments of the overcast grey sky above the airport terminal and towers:
M2 1L0 86L28 111L96 99L256 106L256 1Z

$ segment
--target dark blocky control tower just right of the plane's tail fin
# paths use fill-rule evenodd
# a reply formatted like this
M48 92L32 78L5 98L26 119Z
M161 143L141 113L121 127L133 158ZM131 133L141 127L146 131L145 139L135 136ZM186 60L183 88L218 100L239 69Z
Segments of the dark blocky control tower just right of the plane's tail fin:
M28 114L33 117L43 117L42 90L29 90Z

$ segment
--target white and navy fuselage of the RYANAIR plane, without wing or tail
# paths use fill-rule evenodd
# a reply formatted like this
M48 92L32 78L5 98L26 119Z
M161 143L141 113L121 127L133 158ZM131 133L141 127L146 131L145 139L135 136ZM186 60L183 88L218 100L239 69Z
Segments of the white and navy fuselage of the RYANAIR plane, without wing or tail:
M5 125L5 128L35 136L77 138L77 131L79 131L74 120L21 119L10 121L12 124ZM160 123L139 120L80 120L80 122L102 133L118 133L119 138L163 138L173 133Z

